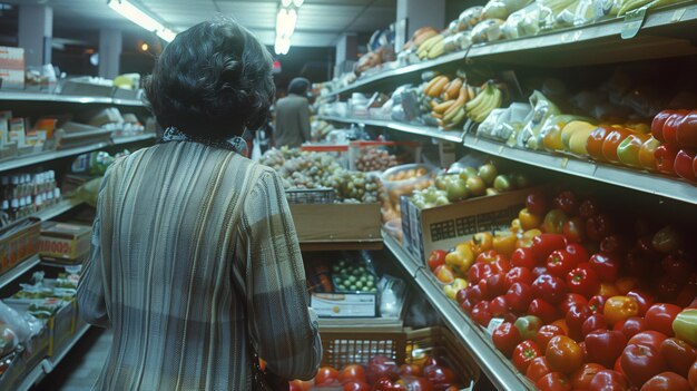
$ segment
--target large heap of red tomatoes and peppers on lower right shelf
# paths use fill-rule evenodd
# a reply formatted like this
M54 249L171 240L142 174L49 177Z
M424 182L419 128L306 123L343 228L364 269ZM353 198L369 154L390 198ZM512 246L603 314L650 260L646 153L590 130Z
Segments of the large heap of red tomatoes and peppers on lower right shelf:
M474 235L429 266L463 276L454 300L541 390L697 389L693 251L673 226L619 226L571 192L534 192L495 234L513 247Z

